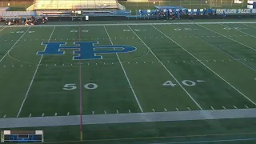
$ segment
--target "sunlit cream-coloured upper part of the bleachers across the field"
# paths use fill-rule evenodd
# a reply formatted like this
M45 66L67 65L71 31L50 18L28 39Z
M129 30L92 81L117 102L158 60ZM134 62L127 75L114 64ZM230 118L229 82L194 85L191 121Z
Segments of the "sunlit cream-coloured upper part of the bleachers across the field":
M34 0L26 10L118 10L117 0Z

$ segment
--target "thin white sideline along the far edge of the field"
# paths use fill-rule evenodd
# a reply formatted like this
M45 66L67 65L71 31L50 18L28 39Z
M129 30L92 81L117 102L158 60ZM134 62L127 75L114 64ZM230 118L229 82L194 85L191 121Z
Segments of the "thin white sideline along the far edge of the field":
M255 22L159 22L159 23L105 23L105 24L70 24L70 25L37 25L35 27L48 27L48 26L126 26L126 25L203 25L203 24L228 24L228 23L240 23L240 24L250 24ZM4 27L4 26L0 26ZM23 26L8 26L8 27L23 27ZM26 27L26 26L25 26Z

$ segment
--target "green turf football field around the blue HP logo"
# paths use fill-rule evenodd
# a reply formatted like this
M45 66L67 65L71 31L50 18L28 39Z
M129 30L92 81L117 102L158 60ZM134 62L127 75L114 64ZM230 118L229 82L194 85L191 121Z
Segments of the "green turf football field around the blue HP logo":
M255 40L255 23L2 26L0 118L79 115L81 110L82 114L129 114L255 108ZM79 48L61 49L65 54L38 55L46 48L42 42L66 42L66 46L98 42L94 46L110 46L102 50L122 50L111 45L134 46L136 50L95 54L102 59L73 60ZM146 142L210 143L224 138L207 134L255 138L254 121L92 125L84 127L84 140L142 138L145 142L143 138L177 136ZM63 134L63 127L45 129ZM73 133L65 134L64 140L59 135L52 138L50 133L48 142L79 140L79 126L67 130ZM122 139L126 140L130 139Z

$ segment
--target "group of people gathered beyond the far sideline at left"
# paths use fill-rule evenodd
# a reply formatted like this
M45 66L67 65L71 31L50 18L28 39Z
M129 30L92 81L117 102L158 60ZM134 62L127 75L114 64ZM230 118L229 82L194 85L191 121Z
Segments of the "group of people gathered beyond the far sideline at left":
M34 26L38 25L40 23L45 24L47 21L47 18L42 17L42 22L39 22L38 19L34 18L33 16L31 18L21 18L18 19L6 19L5 24L6 25L26 25L26 26Z

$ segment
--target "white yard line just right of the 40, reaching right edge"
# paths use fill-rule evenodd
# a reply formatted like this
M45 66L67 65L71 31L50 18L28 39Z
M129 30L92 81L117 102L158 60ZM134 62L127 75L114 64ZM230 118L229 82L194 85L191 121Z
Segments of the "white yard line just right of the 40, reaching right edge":
M158 30L158 28L156 28L155 26L153 26L156 30ZM197 59L198 62L202 63L203 66L206 66L206 64L204 64L203 62L199 61L198 58L196 58L193 54L191 54L189 51L187 51L184 47L182 47L181 45L178 44L178 42L175 42L172 38L168 37L166 34L164 34L161 30L158 30L161 34L165 35L166 38L169 38L172 42L176 43L176 45L180 46L183 50L185 50L188 54L190 54L193 58ZM231 86L234 90L236 90L239 94L241 94L244 98L246 98L248 101L250 101L251 103L253 103L256 106L256 103L254 101L252 101L250 98L248 98L245 94L243 94L240 90L238 90L237 88L235 88L233 85L230 84L230 82L227 82L224 78L222 78L220 75L218 75L214 70L211 70L210 67L206 66L206 68L208 70L210 70L211 72L213 72L214 74L216 74L218 76L218 78L221 78L224 82L226 82L226 84L228 84L229 86Z

